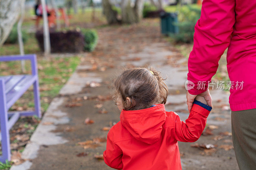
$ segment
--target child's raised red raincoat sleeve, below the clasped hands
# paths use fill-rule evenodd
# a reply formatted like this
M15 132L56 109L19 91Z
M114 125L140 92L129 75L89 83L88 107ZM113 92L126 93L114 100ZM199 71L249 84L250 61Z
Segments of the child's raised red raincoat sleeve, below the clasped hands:
M193 104L186 123L175 118L175 139L181 142L195 142L199 139L206 125L206 119L210 114L209 110Z

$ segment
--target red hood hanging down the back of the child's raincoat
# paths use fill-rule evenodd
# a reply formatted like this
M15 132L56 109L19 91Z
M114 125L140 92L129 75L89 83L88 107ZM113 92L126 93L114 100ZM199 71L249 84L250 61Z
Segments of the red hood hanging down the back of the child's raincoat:
M142 110L122 110L120 115L121 123L132 136L150 145L159 140L165 118L164 104Z

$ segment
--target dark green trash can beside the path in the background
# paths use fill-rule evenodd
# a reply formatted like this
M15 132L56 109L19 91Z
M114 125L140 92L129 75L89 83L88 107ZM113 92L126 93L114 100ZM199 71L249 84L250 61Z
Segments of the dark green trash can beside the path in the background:
M161 32L162 34L178 33L179 27L175 25L178 23L178 14L163 12L160 14L161 18Z

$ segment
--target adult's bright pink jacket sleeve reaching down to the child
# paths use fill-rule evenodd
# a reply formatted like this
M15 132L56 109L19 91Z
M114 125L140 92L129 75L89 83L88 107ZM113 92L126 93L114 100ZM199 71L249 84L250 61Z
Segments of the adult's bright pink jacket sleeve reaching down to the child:
M221 55L230 44L235 24L235 0L204 0L195 25L194 46L188 59L188 80L195 84L190 94L208 89Z

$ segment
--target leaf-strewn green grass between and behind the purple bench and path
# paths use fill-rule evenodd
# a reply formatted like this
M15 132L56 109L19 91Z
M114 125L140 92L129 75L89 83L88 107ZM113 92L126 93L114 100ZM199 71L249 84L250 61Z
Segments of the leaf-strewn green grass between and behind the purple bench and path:
M51 100L58 95L60 89L68 80L70 75L80 63L77 56L68 58L38 58L39 86L41 87L41 107L44 112L47 110ZM2 75L23 74L20 61L0 62L0 73ZM31 73L30 61L26 61L26 74ZM11 108L17 107L33 108L33 89L30 88Z

